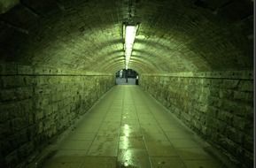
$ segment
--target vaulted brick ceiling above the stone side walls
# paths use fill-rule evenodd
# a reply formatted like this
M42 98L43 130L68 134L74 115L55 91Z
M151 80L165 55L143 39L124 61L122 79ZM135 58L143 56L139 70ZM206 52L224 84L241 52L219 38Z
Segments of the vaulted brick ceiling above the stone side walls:
M138 73L253 67L251 0L10 2L0 9L2 62L115 73L131 18L140 23L129 64Z

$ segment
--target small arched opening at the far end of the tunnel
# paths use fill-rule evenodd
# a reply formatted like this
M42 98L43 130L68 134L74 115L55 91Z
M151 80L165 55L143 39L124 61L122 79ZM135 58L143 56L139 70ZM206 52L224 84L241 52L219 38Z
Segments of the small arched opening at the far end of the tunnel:
M132 69L121 69L115 73L116 85L138 85L139 74Z

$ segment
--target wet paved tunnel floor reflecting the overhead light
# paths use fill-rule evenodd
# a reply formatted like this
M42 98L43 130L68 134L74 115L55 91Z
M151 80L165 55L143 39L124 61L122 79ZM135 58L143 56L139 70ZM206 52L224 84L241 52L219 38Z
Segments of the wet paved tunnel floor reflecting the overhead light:
M220 168L207 144L140 87L115 86L81 118L44 168Z

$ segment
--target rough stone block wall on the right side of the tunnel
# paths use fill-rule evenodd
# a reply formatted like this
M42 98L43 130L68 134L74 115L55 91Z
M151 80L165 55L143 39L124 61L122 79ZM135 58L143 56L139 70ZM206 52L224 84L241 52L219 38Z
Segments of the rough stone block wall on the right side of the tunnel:
M144 74L140 85L238 166L252 167L252 74Z

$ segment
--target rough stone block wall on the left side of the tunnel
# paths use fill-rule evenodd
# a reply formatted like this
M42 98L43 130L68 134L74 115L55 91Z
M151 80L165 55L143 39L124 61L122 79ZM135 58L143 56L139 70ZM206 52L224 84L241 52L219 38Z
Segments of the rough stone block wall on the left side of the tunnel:
M114 75L48 67L0 65L0 73L0 167L29 162L114 85Z

